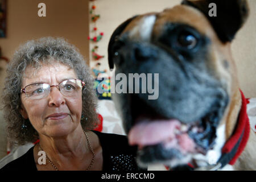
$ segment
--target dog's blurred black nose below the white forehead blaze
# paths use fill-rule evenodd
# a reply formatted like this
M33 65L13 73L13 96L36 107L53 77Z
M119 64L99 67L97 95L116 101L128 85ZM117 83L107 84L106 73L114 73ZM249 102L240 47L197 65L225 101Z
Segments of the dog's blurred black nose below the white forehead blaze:
M134 61L147 61L156 58L156 51L151 47L143 44L133 45Z

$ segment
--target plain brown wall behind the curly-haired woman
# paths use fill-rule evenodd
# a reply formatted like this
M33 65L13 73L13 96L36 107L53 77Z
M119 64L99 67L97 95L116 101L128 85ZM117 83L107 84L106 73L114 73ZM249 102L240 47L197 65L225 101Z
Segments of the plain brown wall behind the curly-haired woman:
M38 4L46 4L46 17L38 16ZM3 56L11 59L27 40L61 36L80 49L88 61L88 0L7 0L7 37L0 38ZM0 60L0 85L5 78L5 61ZM1 89L0 89L1 91ZM6 155L6 132L0 111L0 159Z

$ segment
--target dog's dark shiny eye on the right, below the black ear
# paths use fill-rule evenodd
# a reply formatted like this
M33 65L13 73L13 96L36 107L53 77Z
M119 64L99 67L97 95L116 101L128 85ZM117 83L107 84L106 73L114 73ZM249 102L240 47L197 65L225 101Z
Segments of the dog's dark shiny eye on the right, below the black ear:
M180 32L177 37L177 43L181 47L192 49L196 47L197 39L196 37L188 31Z

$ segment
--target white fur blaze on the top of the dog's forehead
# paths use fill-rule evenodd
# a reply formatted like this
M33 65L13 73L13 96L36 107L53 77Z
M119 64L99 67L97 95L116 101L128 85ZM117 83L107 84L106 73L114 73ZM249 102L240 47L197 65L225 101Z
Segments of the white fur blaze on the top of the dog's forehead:
M143 41L149 41L155 24L156 16L150 15L142 18L130 32L130 37L139 35Z

